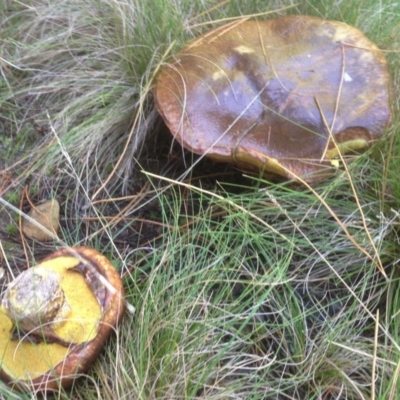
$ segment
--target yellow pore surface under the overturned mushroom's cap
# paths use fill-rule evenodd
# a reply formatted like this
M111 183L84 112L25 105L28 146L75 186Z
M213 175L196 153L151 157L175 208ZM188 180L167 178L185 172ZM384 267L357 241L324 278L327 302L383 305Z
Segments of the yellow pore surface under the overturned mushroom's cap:
M57 257L41 266L61 274L61 286L71 311L54 332L72 343L92 340L97 334L101 308L82 275L68 271L79 264L75 257ZM31 380L51 371L71 351L59 344L11 340L13 324L0 308L0 369L15 380Z

